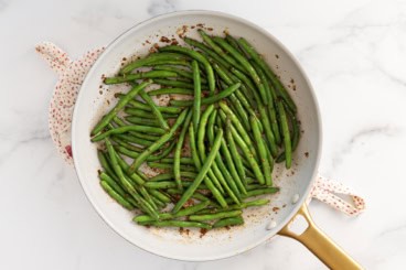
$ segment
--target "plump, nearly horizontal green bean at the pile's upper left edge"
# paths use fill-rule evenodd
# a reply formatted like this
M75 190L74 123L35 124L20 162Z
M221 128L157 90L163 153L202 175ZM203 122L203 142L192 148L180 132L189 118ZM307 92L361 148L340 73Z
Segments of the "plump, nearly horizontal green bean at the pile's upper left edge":
M133 69L138 68L138 67L142 67L142 66L150 66L150 65L154 65L157 63L168 63L168 65L170 64L170 62L179 62L179 63L185 63L188 64L188 62L185 61L186 57L184 55L178 54L178 53L153 53L148 55L145 58L141 60L136 60L135 62L131 62L129 64L127 64L126 66L124 66L119 74L127 74L132 72Z

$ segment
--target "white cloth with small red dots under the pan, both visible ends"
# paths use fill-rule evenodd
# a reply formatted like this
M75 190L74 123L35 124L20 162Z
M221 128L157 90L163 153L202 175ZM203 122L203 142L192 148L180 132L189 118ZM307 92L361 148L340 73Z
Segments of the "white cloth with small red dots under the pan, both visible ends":
M81 85L104 47L87 52L78 60L71 60L67 53L50 42L36 45L36 52L49 63L58 76L49 110L52 140L66 163L73 165L71 147L71 122ZM308 203L317 198L350 216L365 209L365 202L342 183L318 176L310 192ZM350 198L350 199L348 199Z

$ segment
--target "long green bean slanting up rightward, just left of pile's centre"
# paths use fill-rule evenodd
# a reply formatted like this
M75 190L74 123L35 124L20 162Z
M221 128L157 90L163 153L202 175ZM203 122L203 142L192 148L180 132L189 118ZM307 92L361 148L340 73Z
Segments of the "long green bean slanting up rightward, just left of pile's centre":
M151 155L154 151L157 151L160 147L162 147L167 141L172 139L174 132L183 123L185 117L186 117L188 110L182 111L182 114L179 116L174 125L171 127L168 133L163 134L159 140L157 140L154 143L148 147L138 158L132 162L132 164L129 168L129 173L132 173L135 170L137 170L141 163L148 159L149 155Z

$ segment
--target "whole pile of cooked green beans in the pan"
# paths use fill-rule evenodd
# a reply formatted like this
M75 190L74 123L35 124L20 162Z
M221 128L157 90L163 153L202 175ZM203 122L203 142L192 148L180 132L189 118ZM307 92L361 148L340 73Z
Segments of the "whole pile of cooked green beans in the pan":
M203 42L184 37L185 45L161 47L104 80L130 89L90 132L100 186L137 209L139 225L243 225L244 208L269 205L253 197L279 191L275 162L290 169L299 143L297 107L253 45L197 32ZM170 95L170 105L158 106L159 95Z

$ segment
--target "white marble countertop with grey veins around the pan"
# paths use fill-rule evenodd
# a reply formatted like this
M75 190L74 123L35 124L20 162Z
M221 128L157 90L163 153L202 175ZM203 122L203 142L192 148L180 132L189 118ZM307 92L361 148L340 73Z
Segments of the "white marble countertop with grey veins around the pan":
M323 269L276 237L244 255L192 263L142 251L93 209L47 131L56 76L34 45L77 57L159 13L212 9L267 29L312 82L323 120L320 172L356 188L348 217L313 202L316 223L367 269L405 269L406 2L0 0L0 269Z

